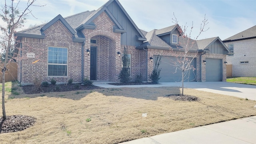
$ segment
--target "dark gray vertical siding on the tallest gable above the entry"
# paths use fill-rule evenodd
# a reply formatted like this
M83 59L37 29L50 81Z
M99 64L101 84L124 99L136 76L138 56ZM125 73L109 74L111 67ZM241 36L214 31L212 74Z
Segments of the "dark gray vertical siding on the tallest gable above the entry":
M112 2L108 5L108 10L112 13L112 15L116 18L116 20L121 24L121 26L127 32L122 34L121 36L121 44L122 45L130 45L130 46L139 46L143 42L140 40L136 40L136 35L140 36L137 32L136 28L132 25L127 16L122 12L121 8L119 8L116 2Z

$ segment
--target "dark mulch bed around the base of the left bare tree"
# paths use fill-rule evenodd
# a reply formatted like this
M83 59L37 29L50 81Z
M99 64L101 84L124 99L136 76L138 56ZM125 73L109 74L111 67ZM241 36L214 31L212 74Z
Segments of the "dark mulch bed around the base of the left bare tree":
M6 116L6 120L3 121L3 117L0 117L0 133L18 132L25 130L36 122L36 118L32 116L14 115Z

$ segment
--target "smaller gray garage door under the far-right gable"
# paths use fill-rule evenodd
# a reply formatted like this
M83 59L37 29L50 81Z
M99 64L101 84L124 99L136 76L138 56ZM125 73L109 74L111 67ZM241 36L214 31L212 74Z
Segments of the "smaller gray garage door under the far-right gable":
M222 81L222 60L206 58L206 82Z

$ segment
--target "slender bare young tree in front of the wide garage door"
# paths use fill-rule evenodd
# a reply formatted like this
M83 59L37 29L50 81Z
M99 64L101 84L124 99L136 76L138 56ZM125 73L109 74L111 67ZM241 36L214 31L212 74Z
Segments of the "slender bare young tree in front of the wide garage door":
M194 38L194 40L191 39L191 33L194 28L193 22L190 30L188 31L189 33L187 33L187 30L188 30L187 24L180 27L178 25L178 20L175 15L174 15L174 18L172 18L172 20L173 20L173 23L176 24L177 26L177 33L178 33L177 36L178 38L180 38L179 39L180 41L178 42L176 47L179 51L182 52L182 55L181 56L176 55L175 60L170 61L170 65L176 68L176 72L177 70L180 70L182 72L182 96L183 96L184 80L186 79L189 80L190 70L193 70L193 71L196 70L195 67L191 64L194 58L196 58L198 54L196 50L193 50L193 46L196 40L198 39L198 37L200 36L200 34L209 29L207 28L205 30L205 26L208 24L207 22L208 20L205 18L205 15L204 15L204 20L202 21L200 26L200 31L196 36L196 38ZM171 49L171 51L173 50ZM186 76L188 77L184 79Z

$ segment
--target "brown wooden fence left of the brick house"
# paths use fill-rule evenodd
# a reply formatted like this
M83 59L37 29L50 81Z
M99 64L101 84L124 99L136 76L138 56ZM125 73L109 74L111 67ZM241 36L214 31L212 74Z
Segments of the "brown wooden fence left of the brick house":
M0 64L0 83L2 83L2 68L4 67L4 64ZM8 63L6 65L6 68L8 71L5 71L5 82L10 82L17 80L18 78L18 65L15 62Z

